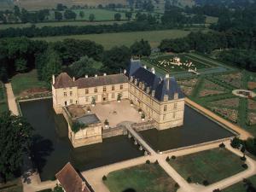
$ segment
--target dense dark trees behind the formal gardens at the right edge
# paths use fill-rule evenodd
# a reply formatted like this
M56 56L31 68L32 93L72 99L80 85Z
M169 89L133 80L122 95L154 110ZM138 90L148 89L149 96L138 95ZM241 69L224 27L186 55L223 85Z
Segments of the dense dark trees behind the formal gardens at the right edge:
M160 51L176 53L195 50L205 55L219 49L219 60L255 71L256 41L252 35L249 32L191 32L186 38L164 39L159 48Z

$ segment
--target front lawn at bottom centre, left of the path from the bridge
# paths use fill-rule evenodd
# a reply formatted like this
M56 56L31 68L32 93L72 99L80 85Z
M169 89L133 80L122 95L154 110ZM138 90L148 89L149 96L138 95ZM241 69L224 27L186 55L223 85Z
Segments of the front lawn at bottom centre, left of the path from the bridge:
M104 182L111 192L134 189L136 192L175 192L175 181L159 165L144 164L110 172ZM132 191L132 190L131 190ZM128 190L127 190L128 192Z

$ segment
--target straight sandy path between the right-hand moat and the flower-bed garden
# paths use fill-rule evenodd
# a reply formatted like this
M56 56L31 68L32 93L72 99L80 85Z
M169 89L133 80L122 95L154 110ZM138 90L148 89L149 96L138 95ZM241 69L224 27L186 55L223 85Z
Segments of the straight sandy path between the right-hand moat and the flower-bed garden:
M197 104L196 102L191 101L188 97L185 98L185 102L193 106L194 108L200 110L201 112L207 114L212 119L217 120L219 123L226 125L230 129L238 132L240 134L241 139L247 139L248 137L253 137L249 132L245 131L240 126L234 125L230 123L230 121L219 117L217 114L212 113L212 111L208 110L207 108L204 108L201 105Z

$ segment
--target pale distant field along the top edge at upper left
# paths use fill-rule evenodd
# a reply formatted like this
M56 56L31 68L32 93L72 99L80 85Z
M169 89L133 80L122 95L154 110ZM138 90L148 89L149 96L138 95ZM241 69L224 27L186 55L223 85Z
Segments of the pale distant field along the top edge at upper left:
M15 1L15 3L6 3L9 0L4 1L2 8L2 2L0 3L0 9L8 9L15 5L19 5L21 8L29 9L29 10L38 10L38 9L53 9L56 7L57 3L62 3L67 7L72 5L85 5L88 6L97 6L99 4L106 5L108 3L120 3L127 4L125 0L20 0Z

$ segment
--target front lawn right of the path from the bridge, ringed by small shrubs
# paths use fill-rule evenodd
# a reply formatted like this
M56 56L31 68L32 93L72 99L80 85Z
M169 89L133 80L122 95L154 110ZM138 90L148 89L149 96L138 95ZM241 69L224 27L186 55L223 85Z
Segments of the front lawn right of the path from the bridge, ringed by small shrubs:
M201 184L204 180L216 183L245 170L240 157L224 148L184 155L169 163L184 179L190 177L192 183Z

